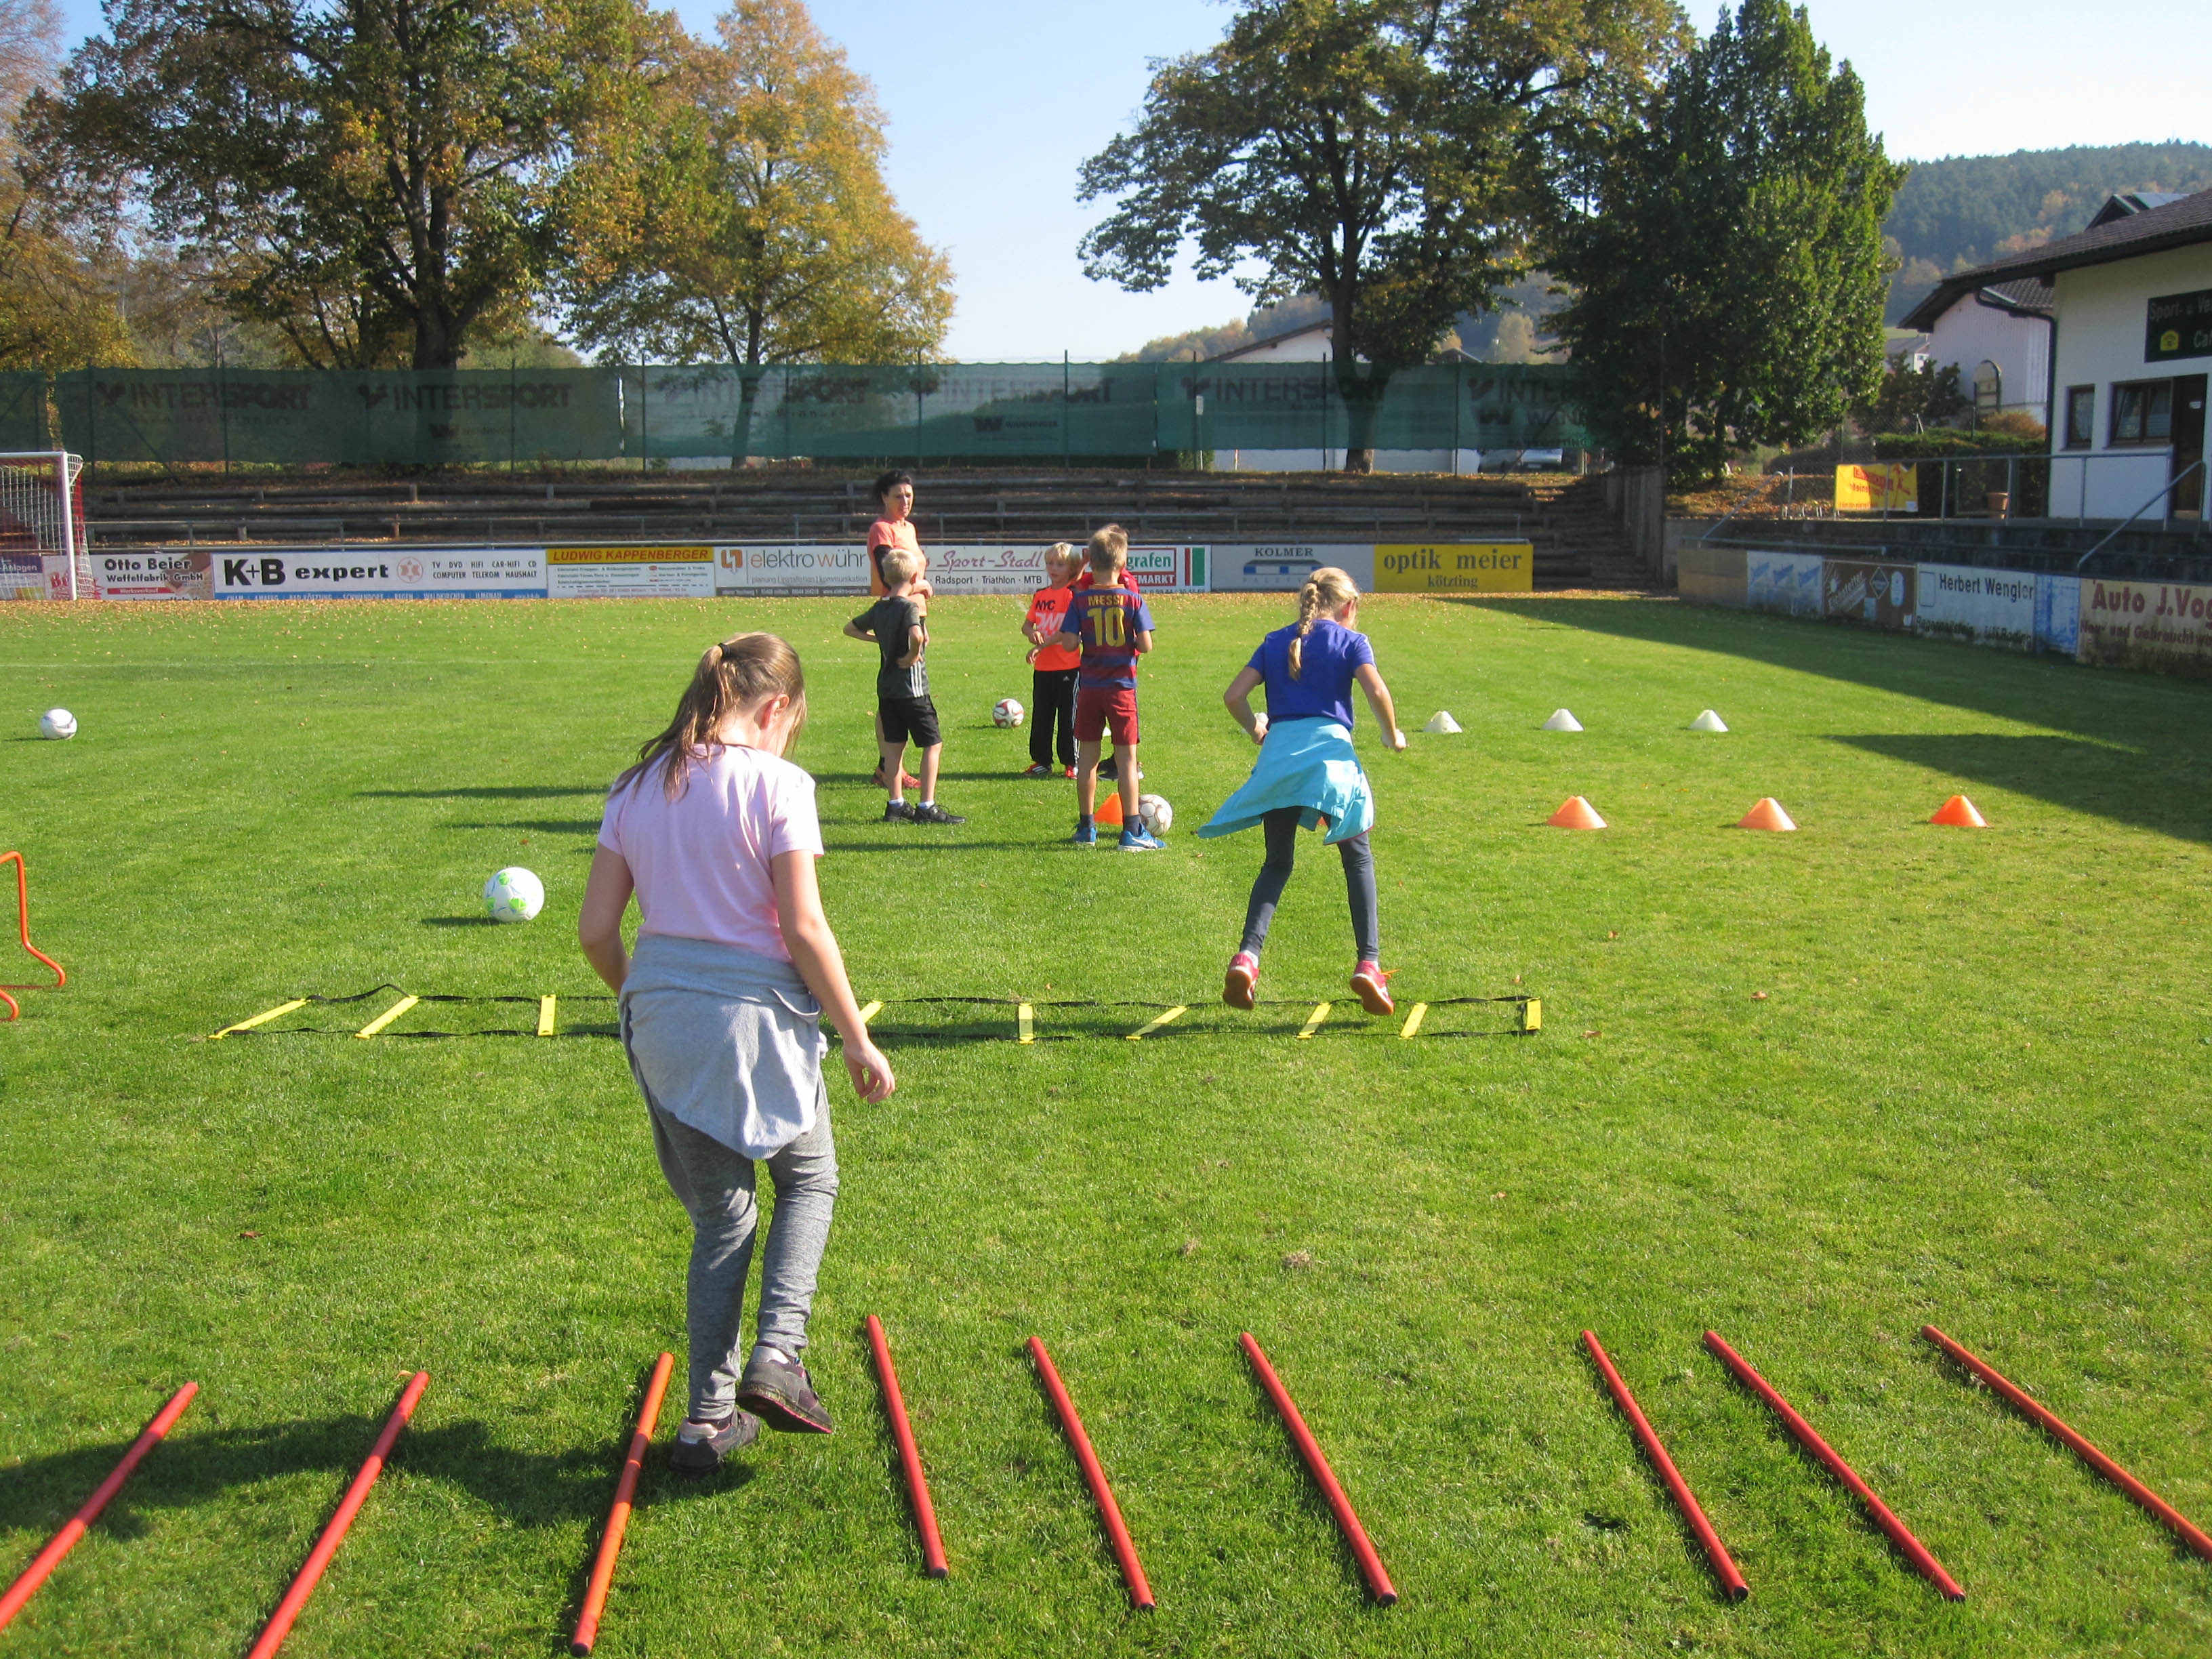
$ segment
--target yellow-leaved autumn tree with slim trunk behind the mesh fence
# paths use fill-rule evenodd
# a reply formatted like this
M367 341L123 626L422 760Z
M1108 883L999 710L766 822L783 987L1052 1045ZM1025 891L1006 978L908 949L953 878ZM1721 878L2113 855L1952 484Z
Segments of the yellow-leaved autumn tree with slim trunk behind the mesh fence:
M916 363L951 268L883 181L883 113L801 0L739 0L655 117L577 173L568 316L586 345L739 365L743 456L770 363Z

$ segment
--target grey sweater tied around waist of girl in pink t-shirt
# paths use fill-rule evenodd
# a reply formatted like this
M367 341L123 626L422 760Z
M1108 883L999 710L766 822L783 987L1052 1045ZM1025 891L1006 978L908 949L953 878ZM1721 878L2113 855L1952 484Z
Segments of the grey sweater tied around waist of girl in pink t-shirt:
M830 1108L821 1013L790 962L641 933L622 982L622 1046L650 1106L759 1159Z

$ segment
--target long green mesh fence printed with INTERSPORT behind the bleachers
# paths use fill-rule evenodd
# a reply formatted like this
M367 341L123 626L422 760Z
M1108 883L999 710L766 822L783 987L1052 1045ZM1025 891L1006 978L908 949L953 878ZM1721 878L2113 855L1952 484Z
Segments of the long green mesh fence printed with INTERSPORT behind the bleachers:
M1447 456L1588 447L1564 380L1551 365L1418 365L1347 398L1325 363L75 369L55 376L55 405L91 462Z

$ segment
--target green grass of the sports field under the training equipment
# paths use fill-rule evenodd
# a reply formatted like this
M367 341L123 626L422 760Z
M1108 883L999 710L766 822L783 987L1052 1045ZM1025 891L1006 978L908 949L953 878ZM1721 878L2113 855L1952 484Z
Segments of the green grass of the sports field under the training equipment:
M1026 699L1018 602L938 606L942 796L971 823L874 823L849 608L0 611L0 847L29 854L35 936L71 969L0 1029L0 1577L170 1387L204 1385L11 1652L243 1650L418 1365L429 1394L288 1652L557 1650L641 1374L681 1349L686 1228L619 1051L192 1037L380 980L599 989L573 945L599 792L741 626L807 659L799 759L863 998L1172 998L1194 1024L911 1042L889 1104L836 1097L812 1360L843 1429L706 1486L655 1464L604 1655L2212 1646L2212 1566L1916 1336L1942 1325L2212 1522L2205 690L1668 602L1369 602L1407 726L1467 726L1371 757L1400 995L1524 989L1546 1029L1398 1042L1338 1015L1301 1044L1281 1011L1256 1035L1214 1018L1259 849L1188 834L1243 779L1217 695L1281 602L1157 602L1146 787L1181 821L1146 858L1057 845L1068 787L1011 776L1022 734L987 719ZM29 737L51 703L73 743ZM1584 734L1535 730L1562 703ZM1683 730L1708 706L1732 734ZM1953 790L1995 827L1929 827ZM1613 827L1542 827L1566 794ZM1761 794L1803 834L1725 827ZM1263 993L1340 998L1336 860L1301 856ZM546 914L467 920L507 863L546 878ZM867 1312L916 1407L942 1584ZM1747 1604L1714 1595L1584 1325ZM1701 1352L1708 1325L1962 1606ZM1367 1604L1239 1329L1400 1606ZM1029 1334L1117 1482L1150 1617Z

